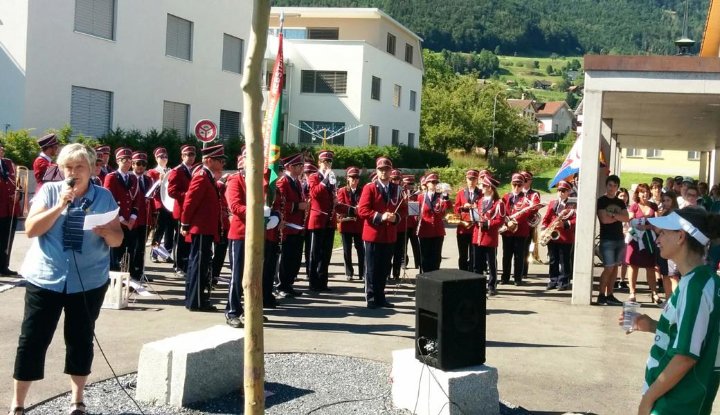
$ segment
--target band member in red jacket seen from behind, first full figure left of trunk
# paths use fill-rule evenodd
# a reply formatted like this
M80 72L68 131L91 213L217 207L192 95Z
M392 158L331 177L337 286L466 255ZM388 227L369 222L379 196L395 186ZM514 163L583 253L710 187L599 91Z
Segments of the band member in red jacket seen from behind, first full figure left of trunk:
M220 240L220 192L215 184L225 165L225 147L213 145L202 149L202 168L192 175L183 194L180 233L191 242L185 280L185 308L190 311L215 311L210 304L207 278L211 266L212 242ZM176 171L176 170L173 170ZM180 173L182 174L182 173Z

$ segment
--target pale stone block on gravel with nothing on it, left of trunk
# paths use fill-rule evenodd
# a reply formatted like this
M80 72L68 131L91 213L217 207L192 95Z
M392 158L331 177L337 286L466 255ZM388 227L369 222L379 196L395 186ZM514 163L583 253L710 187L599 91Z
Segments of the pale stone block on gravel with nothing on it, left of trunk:
M215 326L148 343L140 350L140 401L186 406L239 391L245 331Z

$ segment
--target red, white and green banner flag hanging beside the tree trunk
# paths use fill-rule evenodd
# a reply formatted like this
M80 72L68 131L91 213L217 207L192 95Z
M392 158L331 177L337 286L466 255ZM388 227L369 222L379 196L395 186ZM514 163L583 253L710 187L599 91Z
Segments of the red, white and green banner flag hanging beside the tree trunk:
M272 70L272 78L268 94L268 106L263 120L263 145L265 152L265 201L272 206L276 181L280 169L280 123L282 122L282 80L285 67L282 55L282 29L278 35L277 58Z

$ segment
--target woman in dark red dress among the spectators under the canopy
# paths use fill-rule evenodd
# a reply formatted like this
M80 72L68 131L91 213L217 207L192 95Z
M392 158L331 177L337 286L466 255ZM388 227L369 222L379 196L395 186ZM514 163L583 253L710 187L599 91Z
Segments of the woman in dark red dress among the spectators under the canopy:
M630 206L628 214L631 220L631 235L625 254L625 262L630 266L630 296L629 301L637 301L636 284L640 268L645 268L647 285L654 304L662 300L657 295L655 281L655 255L652 226L647 224L647 218L654 218L657 214L657 205L650 201L650 188L647 183L641 183L635 188L633 194L635 204Z

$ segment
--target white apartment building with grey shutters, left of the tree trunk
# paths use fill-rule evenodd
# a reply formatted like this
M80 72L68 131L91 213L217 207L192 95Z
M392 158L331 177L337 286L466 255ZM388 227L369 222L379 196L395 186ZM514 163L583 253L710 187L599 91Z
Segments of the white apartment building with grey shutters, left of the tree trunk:
M0 1L0 128L238 134L251 0Z

